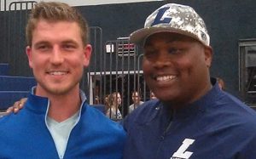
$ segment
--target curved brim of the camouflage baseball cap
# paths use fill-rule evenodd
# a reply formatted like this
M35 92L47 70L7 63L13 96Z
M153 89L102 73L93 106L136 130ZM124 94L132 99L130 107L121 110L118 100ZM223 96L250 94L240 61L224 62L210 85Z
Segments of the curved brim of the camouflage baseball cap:
M130 35L130 42L143 45L145 40L149 36L159 32L174 32L177 34L182 34L184 36L192 37L197 41L201 42L200 39L198 39L198 37L196 37L194 34L188 31L183 31L180 29L172 28L172 27L162 27L162 26L153 26L153 27L143 28L143 29L134 31Z

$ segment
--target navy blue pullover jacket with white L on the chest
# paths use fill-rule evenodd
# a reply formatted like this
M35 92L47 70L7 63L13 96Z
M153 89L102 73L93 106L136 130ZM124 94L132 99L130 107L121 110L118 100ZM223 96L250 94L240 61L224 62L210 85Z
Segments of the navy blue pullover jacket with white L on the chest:
M123 122L125 159L255 159L256 113L218 84L179 111L148 101Z

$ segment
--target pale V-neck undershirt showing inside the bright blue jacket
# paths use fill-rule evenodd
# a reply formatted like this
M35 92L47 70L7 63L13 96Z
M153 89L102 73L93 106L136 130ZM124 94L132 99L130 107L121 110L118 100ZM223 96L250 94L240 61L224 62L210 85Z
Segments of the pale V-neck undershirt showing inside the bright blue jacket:
M46 123L49 128L49 133L55 141L55 147L60 158L64 157L67 148L67 141L71 130L79 120L79 111L63 122L56 122L54 119L47 116Z

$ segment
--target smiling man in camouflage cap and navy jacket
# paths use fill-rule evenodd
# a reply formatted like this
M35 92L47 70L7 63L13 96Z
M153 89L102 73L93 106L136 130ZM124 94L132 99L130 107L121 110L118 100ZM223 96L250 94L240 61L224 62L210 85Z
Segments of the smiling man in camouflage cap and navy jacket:
M210 81L212 48L201 17L189 6L169 3L131 33L141 44L143 73L159 100L124 121L124 158L253 159L256 113Z

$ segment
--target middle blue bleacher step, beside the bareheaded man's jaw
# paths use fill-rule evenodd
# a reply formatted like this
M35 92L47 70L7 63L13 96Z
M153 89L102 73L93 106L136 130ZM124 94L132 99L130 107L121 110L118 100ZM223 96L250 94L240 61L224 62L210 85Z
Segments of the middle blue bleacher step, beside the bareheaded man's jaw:
M34 77L0 76L0 91L29 91L36 84Z

